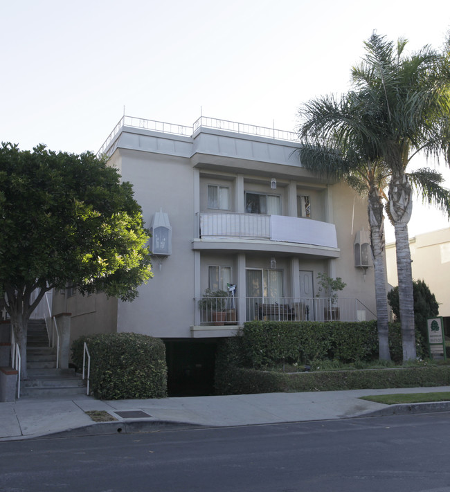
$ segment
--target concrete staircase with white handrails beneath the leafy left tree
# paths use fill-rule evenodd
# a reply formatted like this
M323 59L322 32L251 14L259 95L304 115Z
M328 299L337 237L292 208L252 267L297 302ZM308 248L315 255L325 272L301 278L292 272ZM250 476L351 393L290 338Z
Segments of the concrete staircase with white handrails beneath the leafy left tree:
M28 379L21 382L21 397L62 397L86 394L81 376L73 369L56 368L56 349L48 347L44 320L30 320L26 349Z

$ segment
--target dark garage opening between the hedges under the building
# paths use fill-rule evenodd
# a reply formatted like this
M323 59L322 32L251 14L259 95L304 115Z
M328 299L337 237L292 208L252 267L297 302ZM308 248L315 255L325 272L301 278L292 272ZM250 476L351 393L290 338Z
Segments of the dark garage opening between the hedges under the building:
M169 397L214 394L217 340L164 340Z

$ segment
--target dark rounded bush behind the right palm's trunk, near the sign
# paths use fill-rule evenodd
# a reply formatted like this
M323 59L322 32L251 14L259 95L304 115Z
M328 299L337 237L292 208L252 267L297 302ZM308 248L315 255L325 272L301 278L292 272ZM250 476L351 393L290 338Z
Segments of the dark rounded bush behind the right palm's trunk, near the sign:
M413 297L414 297L414 322L415 327L420 330L424 339L427 340L426 319L439 316L439 303L435 295L431 293L429 286L424 280L415 280L413 282ZM388 301L393 310L397 321L400 321L399 307L399 288L394 287L388 292Z

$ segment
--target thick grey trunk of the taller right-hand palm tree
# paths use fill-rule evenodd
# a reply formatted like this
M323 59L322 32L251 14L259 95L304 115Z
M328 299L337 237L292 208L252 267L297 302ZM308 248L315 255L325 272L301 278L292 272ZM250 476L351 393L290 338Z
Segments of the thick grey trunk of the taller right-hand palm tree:
M408 238L408 221L411 218L412 208L411 185L408 183L406 176L393 176L389 184L389 210L395 230L399 312L402 325L404 362L412 361L416 358L413 271Z

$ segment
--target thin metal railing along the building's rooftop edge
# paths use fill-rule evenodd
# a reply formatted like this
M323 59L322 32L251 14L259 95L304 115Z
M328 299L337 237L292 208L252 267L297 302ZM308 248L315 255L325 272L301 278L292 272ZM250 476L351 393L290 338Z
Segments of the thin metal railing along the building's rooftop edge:
M185 125L177 125L176 123L166 123L157 120L146 120L145 118L134 118L134 116L123 116L109 134L103 145L98 150L97 155L105 154L109 145L114 142L116 136L122 127L143 128L152 131L159 131L163 134L192 136L201 128L221 129L232 131L235 134L254 135L264 138L272 138L273 140L287 140L289 142L298 142L298 135L294 131L279 130L269 127L258 127L257 125L249 125L248 123L240 123L230 120L219 120L218 118L209 118L200 116L195 121L192 127Z

